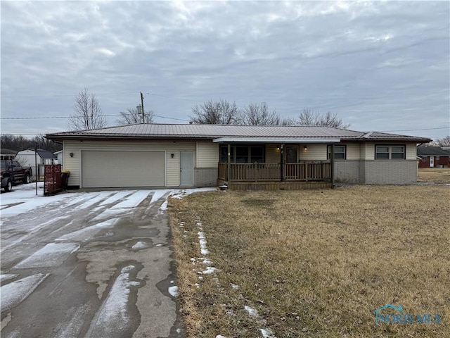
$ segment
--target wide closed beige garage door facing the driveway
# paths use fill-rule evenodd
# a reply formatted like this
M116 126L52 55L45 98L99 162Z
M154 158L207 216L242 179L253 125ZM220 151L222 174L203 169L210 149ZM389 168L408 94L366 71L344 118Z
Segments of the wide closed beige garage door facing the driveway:
M82 187L164 187L164 151L82 151Z

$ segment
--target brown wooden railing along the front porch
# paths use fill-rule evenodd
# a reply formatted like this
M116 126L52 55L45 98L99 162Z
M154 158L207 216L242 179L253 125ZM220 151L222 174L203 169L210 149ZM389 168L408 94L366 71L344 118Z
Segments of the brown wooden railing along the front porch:
M262 181L323 181L331 180L330 162L300 163L219 163L219 180L235 182Z

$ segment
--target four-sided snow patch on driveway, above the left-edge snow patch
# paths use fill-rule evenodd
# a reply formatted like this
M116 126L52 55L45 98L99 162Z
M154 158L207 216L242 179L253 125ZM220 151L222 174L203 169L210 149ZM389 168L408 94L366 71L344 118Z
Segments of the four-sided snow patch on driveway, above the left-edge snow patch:
M49 268L58 266L79 249L79 244L75 243L49 243L42 249L36 251L32 256L15 265L15 268Z

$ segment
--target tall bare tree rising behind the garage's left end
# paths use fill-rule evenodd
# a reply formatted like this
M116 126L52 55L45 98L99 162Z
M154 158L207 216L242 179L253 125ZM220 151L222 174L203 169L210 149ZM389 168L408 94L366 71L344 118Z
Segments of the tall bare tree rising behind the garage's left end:
M89 130L106 126L105 116L94 94L84 88L75 96L75 115L70 116L68 129Z

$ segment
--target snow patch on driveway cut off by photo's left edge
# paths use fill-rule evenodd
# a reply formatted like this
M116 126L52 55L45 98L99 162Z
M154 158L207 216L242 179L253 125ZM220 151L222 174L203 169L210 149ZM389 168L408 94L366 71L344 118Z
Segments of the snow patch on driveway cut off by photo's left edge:
M9 284L3 285L0 288L1 296L1 312L9 310L14 306L17 306L27 296L36 289L41 282L44 282L48 275L44 273L37 273L21 280L16 280Z

